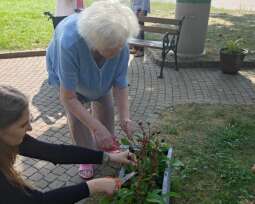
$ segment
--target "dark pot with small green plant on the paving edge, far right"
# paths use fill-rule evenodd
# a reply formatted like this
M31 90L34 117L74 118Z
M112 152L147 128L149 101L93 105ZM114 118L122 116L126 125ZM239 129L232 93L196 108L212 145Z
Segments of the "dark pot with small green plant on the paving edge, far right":
M240 70L248 50L242 48L242 39L229 40L220 49L220 65L223 73L236 74Z

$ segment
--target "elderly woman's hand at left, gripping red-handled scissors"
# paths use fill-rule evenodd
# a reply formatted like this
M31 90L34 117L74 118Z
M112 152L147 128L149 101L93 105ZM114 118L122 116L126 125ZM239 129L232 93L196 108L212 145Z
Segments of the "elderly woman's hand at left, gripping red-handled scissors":
M100 149L110 149L113 146L112 134L100 122L92 130L96 143Z

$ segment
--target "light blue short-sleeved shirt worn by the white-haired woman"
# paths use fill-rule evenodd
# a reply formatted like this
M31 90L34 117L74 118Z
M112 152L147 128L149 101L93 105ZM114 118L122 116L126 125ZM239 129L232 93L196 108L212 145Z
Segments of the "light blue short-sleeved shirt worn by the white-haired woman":
M75 91L88 101L108 94L112 86L127 87L128 46L98 67L78 33L78 15L62 20L49 44L46 54L49 84Z

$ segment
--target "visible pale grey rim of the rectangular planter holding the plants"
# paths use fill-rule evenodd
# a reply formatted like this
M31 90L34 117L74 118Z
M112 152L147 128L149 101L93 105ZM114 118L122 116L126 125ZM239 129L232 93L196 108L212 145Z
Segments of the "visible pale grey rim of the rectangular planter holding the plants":
M170 160L172 159L172 153L173 153L173 148L169 148L167 157ZM172 173L171 166L168 163L164 171L164 177L162 182L162 194L171 192L171 173ZM122 167L119 171L119 177L123 177L124 175L125 175L125 168ZM164 200L165 200L165 204L171 204L169 197L164 198Z

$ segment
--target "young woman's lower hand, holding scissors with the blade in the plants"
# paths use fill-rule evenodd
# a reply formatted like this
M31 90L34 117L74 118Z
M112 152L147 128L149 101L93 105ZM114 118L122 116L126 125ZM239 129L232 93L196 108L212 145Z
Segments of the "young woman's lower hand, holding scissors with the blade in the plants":
M105 193L112 195L117 192L121 187L119 178L98 178L87 181L90 195L95 193Z

